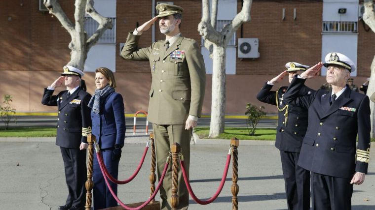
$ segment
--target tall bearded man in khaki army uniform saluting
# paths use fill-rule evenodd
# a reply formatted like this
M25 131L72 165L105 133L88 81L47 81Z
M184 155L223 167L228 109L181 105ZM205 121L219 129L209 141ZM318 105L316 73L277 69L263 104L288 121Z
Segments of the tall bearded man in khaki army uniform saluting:
M183 8L160 3L159 15L128 34L121 56L126 60L150 61L152 84L149 113L155 134L158 178L160 179L166 158L173 143L179 143L184 154L188 173L191 131L201 115L206 82L203 56L197 42L181 36L179 27ZM165 40L159 40L148 48L138 49L140 34L150 29L159 19L160 32ZM160 187L161 209L170 210L172 173L169 168ZM188 209L188 191L179 172L177 209Z

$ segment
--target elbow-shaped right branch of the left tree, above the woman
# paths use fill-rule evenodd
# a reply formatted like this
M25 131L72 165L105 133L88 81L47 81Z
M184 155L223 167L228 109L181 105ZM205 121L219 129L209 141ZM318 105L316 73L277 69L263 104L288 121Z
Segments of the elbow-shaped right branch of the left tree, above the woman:
M87 50L89 50L98 42L99 38L107 29L112 29L113 23L110 18L103 17L95 10L94 0L87 0L86 12L92 17L92 19L99 23L98 29L86 41Z

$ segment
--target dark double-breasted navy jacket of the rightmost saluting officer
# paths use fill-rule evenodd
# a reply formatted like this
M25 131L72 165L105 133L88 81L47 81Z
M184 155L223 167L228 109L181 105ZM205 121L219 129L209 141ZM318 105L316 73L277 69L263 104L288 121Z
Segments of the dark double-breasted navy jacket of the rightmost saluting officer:
M294 78L284 95L287 103L309 111L298 165L332 177L352 178L355 171L367 174L371 130L369 97L346 86L330 105L331 91L317 90L315 94L299 96L304 81Z

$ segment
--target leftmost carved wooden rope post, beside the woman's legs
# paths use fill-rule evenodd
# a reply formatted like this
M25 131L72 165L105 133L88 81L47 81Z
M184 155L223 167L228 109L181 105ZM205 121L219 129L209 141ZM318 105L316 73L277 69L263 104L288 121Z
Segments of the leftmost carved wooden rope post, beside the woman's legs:
M92 201L92 193L91 190L94 186L94 183L92 182L92 163L93 163L93 153L94 153L94 142L95 142L95 136L88 135L87 136L87 142L88 142L88 162L87 162L87 180L86 180L86 210L91 210L91 201Z

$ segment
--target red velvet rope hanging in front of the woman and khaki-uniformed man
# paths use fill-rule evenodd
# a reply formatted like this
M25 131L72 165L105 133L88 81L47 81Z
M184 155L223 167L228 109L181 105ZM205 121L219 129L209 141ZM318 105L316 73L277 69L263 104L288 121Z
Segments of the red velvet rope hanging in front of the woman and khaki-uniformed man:
M101 156L101 152L97 152L97 153L96 153L96 157L98 158L98 160L99 160L100 156ZM145 203L143 203L143 204L142 204L141 206L139 206L139 207L131 208L131 207L126 206L124 203L122 203L122 202L120 201L120 199L118 199L117 195L116 195L116 194L113 192L113 190L112 190L112 187L111 187L111 185L110 185L110 182L107 180L107 177L105 176L105 171L104 171L104 168L103 168L103 165L104 165L104 164L103 164L101 161L98 161L98 162L99 162L99 167L100 167L100 170L102 171L102 174L103 174L104 180L106 181L106 183L107 183L107 187L108 187L108 189L110 190L110 192L111 192L113 198L114 198L114 199L117 201L117 203L119 203L119 204L121 205L121 207L124 208L125 210L140 210L140 209L144 208L146 205L148 205L148 204L149 204L149 203L155 198L157 192L159 191L160 185L161 185L161 183L162 183L163 180L164 180L165 174L167 173L167 169L168 169L168 166L169 166L169 161L167 161L167 162L165 163L164 170L163 170L163 174L161 175L161 178L160 178L160 180L159 180L159 183L157 184L156 189L155 189L155 191L153 192L153 194L151 195L151 197L149 198L149 200L145 201Z

